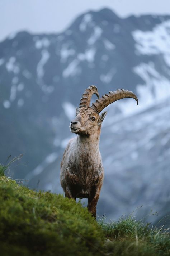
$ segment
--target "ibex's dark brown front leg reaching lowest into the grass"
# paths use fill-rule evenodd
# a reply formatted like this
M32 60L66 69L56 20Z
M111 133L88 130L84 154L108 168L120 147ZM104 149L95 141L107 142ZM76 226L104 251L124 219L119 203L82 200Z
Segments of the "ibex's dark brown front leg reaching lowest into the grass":
M90 197L88 198L88 210L96 219L96 206L99 199L99 191L95 187L92 188Z

